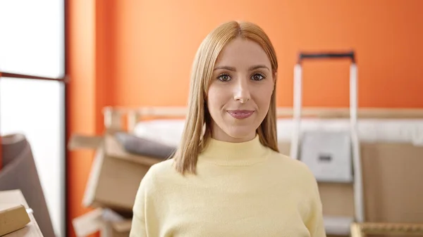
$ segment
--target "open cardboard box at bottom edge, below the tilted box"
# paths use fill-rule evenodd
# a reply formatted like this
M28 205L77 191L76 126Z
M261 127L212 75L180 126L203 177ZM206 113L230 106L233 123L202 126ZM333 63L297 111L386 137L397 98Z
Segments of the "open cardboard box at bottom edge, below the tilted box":
M73 228L77 237L100 233L101 237L128 237L131 220L125 219L113 210L97 208L73 219Z

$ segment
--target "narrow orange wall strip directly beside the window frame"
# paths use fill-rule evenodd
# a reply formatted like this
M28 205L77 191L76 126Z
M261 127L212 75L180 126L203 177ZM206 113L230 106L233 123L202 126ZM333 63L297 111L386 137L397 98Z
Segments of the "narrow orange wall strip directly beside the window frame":
M92 1L68 1L67 70L68 134L95 132L95 7ZM67 192L69 236L75 236L71 219L87 210L81 207L82 195L92 162L92 151L68 152Z

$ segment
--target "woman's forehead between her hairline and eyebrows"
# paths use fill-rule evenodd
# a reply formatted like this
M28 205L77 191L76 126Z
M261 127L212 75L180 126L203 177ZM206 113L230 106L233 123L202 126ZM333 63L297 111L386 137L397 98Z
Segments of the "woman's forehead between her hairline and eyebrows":
M257 42L237 38L223 47L216 60L216 66L231 65L233 67L248 67L250 65L267 65L271 68L269 57Z

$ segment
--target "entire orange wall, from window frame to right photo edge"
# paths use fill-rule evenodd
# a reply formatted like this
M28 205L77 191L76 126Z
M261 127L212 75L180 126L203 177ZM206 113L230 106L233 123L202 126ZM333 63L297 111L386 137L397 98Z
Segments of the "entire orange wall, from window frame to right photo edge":
M360 106L423 108L421 9L420 0L68 1L68 132L100 134L105 105L185 105L197 47L233 19L271 37L278 105L292 105L298 51L355 49ZM305 63L304 80L305 105L348 105L347 61ZM91 162L92 152L69 153L70 219L87 211Z

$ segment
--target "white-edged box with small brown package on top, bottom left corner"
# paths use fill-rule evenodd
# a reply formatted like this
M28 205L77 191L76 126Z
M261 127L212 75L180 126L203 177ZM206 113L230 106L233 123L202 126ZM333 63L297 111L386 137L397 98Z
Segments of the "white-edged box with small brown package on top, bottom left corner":
M0 236L42 237L30 210L20 190L0 191Z

